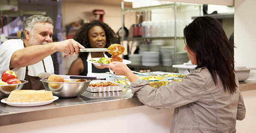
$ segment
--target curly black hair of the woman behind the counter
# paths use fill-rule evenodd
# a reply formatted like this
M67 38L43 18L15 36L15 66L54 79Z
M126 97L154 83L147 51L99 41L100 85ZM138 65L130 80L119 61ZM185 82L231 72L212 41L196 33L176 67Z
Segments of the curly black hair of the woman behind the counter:
M109 27L106 23L103 23L99 20L94 20L91 23L86 23L80 27L80 29L75 34L74 40L79 42L81 45L83 45L85 48L91 48L90 41L88 37L88 32L93 26L101 26L101 28L105 31L106 34L106 48L110 46L111 44L118 43L120 44L119 38L117 38L116 33L112 30L111 27ZM109 53L107 53L107 56L111 56ZM78 57L80 58L87 58L88 52L80 52Z

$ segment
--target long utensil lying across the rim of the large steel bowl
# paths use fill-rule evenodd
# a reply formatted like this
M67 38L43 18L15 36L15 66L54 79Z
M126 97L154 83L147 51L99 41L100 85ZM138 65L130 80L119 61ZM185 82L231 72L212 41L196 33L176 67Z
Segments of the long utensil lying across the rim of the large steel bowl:
M47 79L49 76L55 75L53 73L42 72L38 74L38 77L42 79ZM89 77L89 76L77 76L77 75L58 75L62 78L70 78L70 79L88 79L88 80L106 80L106 78L97 78L97 77Z

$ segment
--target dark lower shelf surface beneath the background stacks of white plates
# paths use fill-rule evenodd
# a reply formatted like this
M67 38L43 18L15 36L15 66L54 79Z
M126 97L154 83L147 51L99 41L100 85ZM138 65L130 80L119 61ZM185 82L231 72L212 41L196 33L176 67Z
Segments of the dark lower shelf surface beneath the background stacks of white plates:
M162 72L178 72L177 68L164 67L164 66L141 66L141 65L127 65L133 71L139 72L139 70L150 70L151 72L162 71Z

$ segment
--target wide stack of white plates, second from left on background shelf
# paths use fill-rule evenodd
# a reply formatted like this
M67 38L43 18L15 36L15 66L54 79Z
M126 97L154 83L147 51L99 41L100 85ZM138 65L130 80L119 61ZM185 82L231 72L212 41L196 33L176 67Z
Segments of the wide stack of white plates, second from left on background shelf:
M160 54L157 51L144 51L142 53L142 66L159 66Z

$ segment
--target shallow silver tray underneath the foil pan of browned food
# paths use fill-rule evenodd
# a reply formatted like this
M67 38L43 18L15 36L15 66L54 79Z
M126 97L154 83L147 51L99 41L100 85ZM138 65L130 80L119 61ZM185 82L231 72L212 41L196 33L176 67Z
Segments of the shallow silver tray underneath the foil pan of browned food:
M122 92L122 91L116 91L116 92L88 92L85 91L82 93L82 96L88 97L88 98L107 98L107 97L123 97L123 96L133 96L133 93L130 92Z

